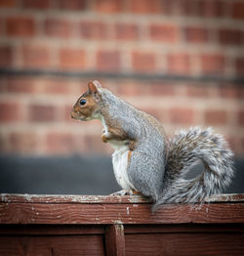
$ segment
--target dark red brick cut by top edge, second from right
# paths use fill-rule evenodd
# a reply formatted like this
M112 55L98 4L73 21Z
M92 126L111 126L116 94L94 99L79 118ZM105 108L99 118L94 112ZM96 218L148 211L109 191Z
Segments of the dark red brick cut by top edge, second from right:
M223 17L224 6L228 5L223 0L201 0L195 1L196 4L196 15L203 17Z

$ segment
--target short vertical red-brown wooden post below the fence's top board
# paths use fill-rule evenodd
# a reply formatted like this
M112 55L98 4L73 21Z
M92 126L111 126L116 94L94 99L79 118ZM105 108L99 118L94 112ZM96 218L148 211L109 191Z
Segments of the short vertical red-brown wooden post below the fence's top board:
M125 255L125 236L122 224L108 225L105 230L106 256Z

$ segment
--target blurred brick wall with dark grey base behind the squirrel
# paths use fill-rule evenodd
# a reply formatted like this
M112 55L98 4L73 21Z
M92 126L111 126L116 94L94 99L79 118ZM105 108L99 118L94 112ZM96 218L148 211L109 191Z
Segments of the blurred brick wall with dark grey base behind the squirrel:
M168 135L213 126L244 192L244 1L0 0L0 192L118 190L99 121L70 109L90 80Z

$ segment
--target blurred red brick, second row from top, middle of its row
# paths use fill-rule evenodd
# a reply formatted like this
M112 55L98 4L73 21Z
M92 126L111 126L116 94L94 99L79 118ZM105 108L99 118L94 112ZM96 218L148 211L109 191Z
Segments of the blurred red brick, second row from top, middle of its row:
M119 40L139 39L139 26L131 23L115 24L115 38Z

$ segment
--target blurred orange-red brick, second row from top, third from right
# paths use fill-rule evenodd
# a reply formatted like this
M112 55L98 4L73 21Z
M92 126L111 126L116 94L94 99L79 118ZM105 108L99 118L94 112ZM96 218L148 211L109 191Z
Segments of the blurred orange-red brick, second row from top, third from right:
M178 29L174 24L151 24L149 33L151 39L165 43L175 43L178 40Z

